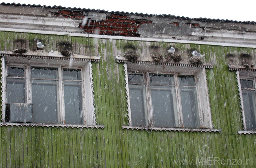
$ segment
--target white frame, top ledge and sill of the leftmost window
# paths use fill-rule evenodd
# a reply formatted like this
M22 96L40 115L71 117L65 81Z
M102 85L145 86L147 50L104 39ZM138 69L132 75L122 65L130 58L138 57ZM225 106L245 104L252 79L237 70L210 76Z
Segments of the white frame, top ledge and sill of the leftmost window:
M56 53L57 51L51 51ZM42 53L41 53L42 54ZM1 58L1 88L2 88L2 123L0 125L21 125L21 126L51 126L51 127L87 127L87 128L104 128L102 125L96 125L95 117L95 99L93 94L93 77L92 77L92 63L91 61L98 62L100 56L88 57L83 55L76 55L76 58L67 58L64 56L38 56L31 55L12 55L2 54ZM80 58L79 58L80 57ZM88 58L87 58L88 57ZM70 65L70 61L73 64ZM58 118L60 121L58 124L44 124L44 123L11 123L5 122L5 103L7 102L7 66L11 67L25 67L26 76L26 92L27 103L32 103L32 91L31 91L31 67L45 67L45 68L58 68L58 84L59 84L59 113ZM83 104L83 121L84 124L65 124L65 109L64 109L64 93L63 93L63 80L62 69L81 69L82 78L82 104Z

